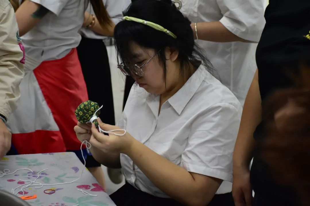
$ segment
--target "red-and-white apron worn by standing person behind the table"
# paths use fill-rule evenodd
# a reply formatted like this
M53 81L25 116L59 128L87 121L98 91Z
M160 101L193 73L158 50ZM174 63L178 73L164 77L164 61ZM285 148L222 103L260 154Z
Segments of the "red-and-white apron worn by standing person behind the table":
M76 48L62 59L43 61L31 73L21 84L24 93L13 115L16 118L9 122L14 124L15 149L19 154L80 149L81 142L73 130L77 124L74 111L88 96Z

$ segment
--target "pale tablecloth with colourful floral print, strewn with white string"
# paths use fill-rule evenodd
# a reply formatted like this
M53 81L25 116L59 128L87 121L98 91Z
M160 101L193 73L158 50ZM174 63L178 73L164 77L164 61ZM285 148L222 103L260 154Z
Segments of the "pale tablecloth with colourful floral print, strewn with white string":
M84 165L79 161L75 153L71 152L11 155L5 156L0 161L0 171L2 173L11 173L21 168L29 168L33 172L30 170L19 170L14 174L0 177L0 189L11 192L12 188L24 184L24 181L34 181L38 177L38 172L44 169L48 170L40 173L36 182L42 184L71 182L80 177ZM7 170L10 170L10 172L7 172ZM51 190L49 191L48 189ZM78 189L97 196L84 195ZM15 193L19 190L20 188L16 189ZM46 194L44 191L53 194ZM115 206L103 187L98 184L96 179L86 169L78 181L70 184L24 189L24 195L34 194L37 195L36 199L26 200L33 206ZM20 191L17 195L21 196L23 193Z

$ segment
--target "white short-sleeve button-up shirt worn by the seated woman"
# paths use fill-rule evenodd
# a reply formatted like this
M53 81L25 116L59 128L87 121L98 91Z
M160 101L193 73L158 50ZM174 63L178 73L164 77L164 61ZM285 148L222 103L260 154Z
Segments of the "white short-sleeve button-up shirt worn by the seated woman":
M232 92L200 66L162 104L158 115L159 99L159 95L133 86L118 126L190 172L232 181L232 152L242 111ZM125 154L121 154L121 165L128 183L168 197Z

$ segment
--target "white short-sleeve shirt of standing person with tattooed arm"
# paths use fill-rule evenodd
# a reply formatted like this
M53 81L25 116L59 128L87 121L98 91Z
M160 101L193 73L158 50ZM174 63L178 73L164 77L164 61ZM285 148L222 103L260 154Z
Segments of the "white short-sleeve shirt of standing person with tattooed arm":
M50 12L21 37L26 55L38 61L61 59L81 41L78 33L89 0L30 0Z

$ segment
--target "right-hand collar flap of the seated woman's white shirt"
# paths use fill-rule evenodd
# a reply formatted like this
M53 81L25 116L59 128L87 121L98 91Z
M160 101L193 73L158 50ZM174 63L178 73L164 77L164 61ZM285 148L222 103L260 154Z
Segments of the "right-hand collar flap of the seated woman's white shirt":
M170 105L179 115L182 113L189 100L192 99L207 74L208 72L204 66L200 65L181 89L168 99Z

